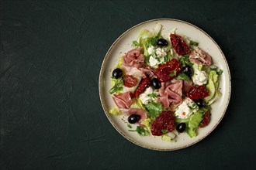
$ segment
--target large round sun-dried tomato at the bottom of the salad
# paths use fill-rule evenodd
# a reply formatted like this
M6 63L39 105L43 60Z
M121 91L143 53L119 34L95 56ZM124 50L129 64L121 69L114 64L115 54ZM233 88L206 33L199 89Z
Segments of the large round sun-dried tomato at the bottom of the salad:
M154 136L160 136L163 131L175 130L175 115L171 111L162 111L159 117L151 125L151 133Z

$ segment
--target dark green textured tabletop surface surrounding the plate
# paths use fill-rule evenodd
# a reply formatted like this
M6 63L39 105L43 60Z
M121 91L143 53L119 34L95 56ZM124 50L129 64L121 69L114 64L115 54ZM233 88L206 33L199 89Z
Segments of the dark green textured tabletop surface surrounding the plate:
M255 169L255 1L0 1L0 169ZM196 145L151 151L109 123L99 70L126 29L182 19L223 49L232 94Z

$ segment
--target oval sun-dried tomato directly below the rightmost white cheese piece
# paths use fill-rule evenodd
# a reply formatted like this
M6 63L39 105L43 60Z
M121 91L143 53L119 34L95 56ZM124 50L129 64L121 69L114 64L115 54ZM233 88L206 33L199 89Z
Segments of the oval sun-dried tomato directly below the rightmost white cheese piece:
M187 97L189 97L192 100L199 100L203 99L205 97L209 96L209 90L206 89L204 86L194 86L190 87L189 90L187 91Z

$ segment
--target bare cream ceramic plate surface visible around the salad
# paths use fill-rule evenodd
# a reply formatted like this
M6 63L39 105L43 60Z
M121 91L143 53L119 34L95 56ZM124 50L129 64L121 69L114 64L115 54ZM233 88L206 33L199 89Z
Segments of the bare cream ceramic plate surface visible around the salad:
M222 96L214 104L212 104L212 116L210 123L205 128L199 128L198 135L195 138L189 138L188 134L182 133L178 135L176 142L168 142L162 141L161 137L154 137L152 135L146 137L140 136L136 132L128 131L130 128L128 128L127 124L125 124L123 121L123 119L126 118L123 116L112 116L108 113L109 108L115 106L115 103L109 94L109 89L112 87L112 69L119 62L120 56L123 56L124 53L132 49L131 44L133 40L137 39L140 30L152 30L156 26L156 23L160 23L163 26L161 33L166 39L168 39L171 29L176 28L176 33L178 35L188 36L190 39L199 42L200 48L212 56L213 64L223 70L223 74L220 76L220 91ZM128 29L121 36L119 36L119 38L116 39L116 41L109 48L109 51L106 53L105 59L102 62L102 68L99 74L99 96L102 102L102 107L112 126L116 128L116 131L122 134L123 137L129 141L132 141L134 144L159 151L172 151L186 148L205 138L222 120L230 101L230 93L230 70L227 65L227 60L225 59L220 47L206 32L202 31L202 29L193 26L189 22L184 22L178 19L154 19L147 22L142 22L137 26L133 26L132 28ZM133 129L134 128L135 126Z

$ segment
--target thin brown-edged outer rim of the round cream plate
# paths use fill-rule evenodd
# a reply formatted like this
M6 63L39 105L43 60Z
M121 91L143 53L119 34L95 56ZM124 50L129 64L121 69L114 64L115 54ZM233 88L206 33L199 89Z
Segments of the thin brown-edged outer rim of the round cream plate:
M106 58L107 56L109 56L109 53L110 51L112 50L113 46L116 45L116 42L119 41L119 39L121 39L123 36L126 35L126 33L130 32L131 30L137 28L138 26L141 26L141 25L144 25L148 22L161 22L161 21L168 21L168 22L182 22L182 23L185 23L189 26L192 26L194 27L195 29L198 29L199 31L201 31L202 33L204 33L209 39L211 39L213 41L213 43L215 44L215 46L220 50L220 53L222 54L222 57L223 57L223 60L225 61L225 66L227 66L227 81L229 81L229 84L230 86L228 87L228 91L227 91L227 104L225 104L225 107L224 107L224 110L223 110L223 114L222 116L220 117L220 120L218 122L216 122L216 124L213 126L213 128L210 129L210 131L208 131L205 135L202 136L202 138L199 138L198 140L190 143L189 145L184 145L182 147L177 147L177 148L153 148L153 147L150 147L150 146L147 146L147 145L143 145L143 144L140 144L138 143L137 141L133 141L132 139L130 139L129 137L127 137L125 134L123 134L122 131L119 131L119 129L116 127L116 124L114 124L108 114L108 111L106 110L106 106L105 104L103 103L102 101L102 90L101 90L101 87L102 87L102 80L101 80L101 77L102 77L102 70L103 70L103 66L105 65L106 63ZM102 108L106 114L106 117L109 119L109 122L112 124L112 126L116 129L116 131L119 132L119 134L121 134L124 138L126 138L128 141L131 141L133 144L135 145L138 145L142 148L147 148L147 149L150 149L150 150L154 150L154 151L176 151L176 150L180 150L182 148L188 148L189 146L192 146L192 145L195 145L196 143L198 143L199 141L202 141L204 138L206 138L209 134L211 134L213 132L213 130L217 127L218 124L220 124L220 121L223 120L223 117L225 114L227 114L227 107L228 105L230 104L230 97L231 97L231 75L230 75L230 68L229 68L229 65L227 63L227 59L226 59L226 56L224 55L223 51L220 49L220 46L216 43L216 41L211 37L209 36L208 33L206 33L204 30L200 29L198 26L195 26L193 25L192 23L190 22L186 22L184 20L181 20L181 19L168 19L168 18L164 18L164 19L150 19L150 20L147 20L147 21L144 21L144 22L140 22L138 23L137 25L134 25L132 27L130 27L130 29L126 29L125 32L123 32L114 42L112 42L112 45L109 47L108 51L106 52L106 55L104 56L104 59L102 60L102 66L100 68L100 72L99 72L99 98L100 98L100 101L101 101L101 104L102 104Z

